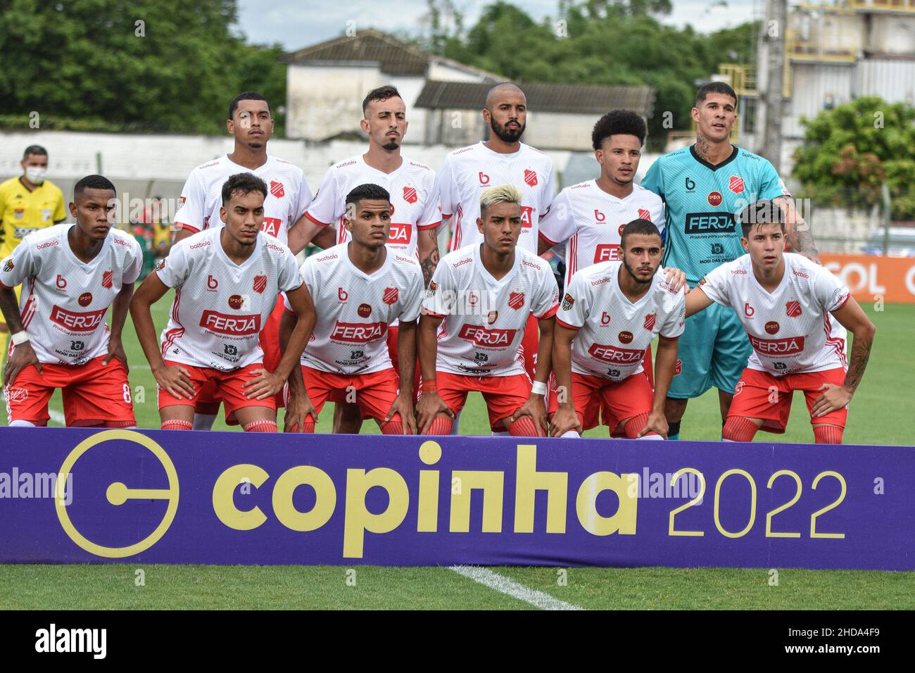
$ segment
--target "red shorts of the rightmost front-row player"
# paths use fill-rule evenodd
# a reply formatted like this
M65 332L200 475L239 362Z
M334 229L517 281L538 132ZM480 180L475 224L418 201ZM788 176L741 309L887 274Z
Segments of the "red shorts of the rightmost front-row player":
M827 369L823 372L785 374L784 376L773 376L769 372L747 368L743 374L740 374L740 380L734 388L734 398L731 400L731 407L727 410L727 418L732 416L761 418L763 421L761 430L781 434L788 425L793 391L803 391L807 401L807 411L810 411L813 402L822 395L821 385L842 385L843 383L845 383L845 369L842 367ZM847 418L848 407L845 407L820 418L811 418L810 422L811 425L826 424L845 428Z

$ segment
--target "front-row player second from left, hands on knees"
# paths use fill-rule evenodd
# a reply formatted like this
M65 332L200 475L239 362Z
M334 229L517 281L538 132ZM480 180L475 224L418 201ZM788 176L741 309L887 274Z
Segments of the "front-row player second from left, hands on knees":
M226 421L245 432L275 432L276 403L315 322L296 257L263 233L264 180L251 173L222 186L220 217L172 247L131 303L136 335L159 388L162 429L191 429L205 386L215 386ZM150 307L175 288L161 350ZM260 332L281 292L298 321L274 371L264 368Z

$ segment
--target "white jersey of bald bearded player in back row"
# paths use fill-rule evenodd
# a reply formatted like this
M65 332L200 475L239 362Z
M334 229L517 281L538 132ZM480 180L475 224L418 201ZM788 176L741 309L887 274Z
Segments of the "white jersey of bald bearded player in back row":
M479 195L504 184L514 185L522 193L518 247L536 254L537 224L553 202L553 160L523 143L513 154L493 152L479 142L445 157L436 185L442 215L451 217L452 250L483 242L477 229Z

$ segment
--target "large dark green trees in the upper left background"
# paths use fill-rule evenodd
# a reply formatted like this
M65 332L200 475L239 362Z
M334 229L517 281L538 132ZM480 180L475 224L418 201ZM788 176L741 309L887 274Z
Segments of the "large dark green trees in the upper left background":
M274 106L285 101L278 50L232 32L235 0L11 0L2 7L7 115L221 133L233 92L256 87L277 97Z

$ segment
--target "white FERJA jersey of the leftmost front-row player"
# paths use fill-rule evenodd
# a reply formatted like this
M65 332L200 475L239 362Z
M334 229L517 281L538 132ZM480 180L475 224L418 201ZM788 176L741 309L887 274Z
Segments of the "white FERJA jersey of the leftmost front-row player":
M85 364L107 354L105 314L143 266L140 245L119 229L108 233L91 262L82 262L67 239L74 226L30 233L0 265L0 284L23 284L19 312L41 363Z

